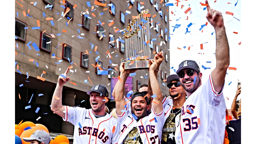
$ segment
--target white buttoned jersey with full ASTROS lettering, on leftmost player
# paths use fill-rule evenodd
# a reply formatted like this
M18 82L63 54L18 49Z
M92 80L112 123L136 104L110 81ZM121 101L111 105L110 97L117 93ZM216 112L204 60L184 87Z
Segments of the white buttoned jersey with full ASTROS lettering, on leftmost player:
M96 118L92 109L70 106L65 106L65 114L63 120L75 126L73 144L117 144L120 126L110 114Z

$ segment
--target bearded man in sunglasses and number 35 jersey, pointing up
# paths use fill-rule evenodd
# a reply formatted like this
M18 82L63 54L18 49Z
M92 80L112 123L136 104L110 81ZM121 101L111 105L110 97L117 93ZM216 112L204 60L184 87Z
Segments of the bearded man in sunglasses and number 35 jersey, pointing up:
M216 67L204 84L202 73L193 60L180 63L177 74L188 99L181 110L180 124L175 132L177 144L223 144L226 124L226 103L223 88L230 63L229 44L221 12L207 8L206 18L216 32Z

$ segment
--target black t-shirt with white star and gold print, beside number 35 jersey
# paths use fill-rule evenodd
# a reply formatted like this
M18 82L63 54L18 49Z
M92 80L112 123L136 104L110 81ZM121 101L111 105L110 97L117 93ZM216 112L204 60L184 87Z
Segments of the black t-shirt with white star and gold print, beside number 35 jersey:
M170 112L169 117L166 119L164 123L161 144L175 144L175 118L179 116L177 118L180 119L180 113L181 111L178 108L175 108Z

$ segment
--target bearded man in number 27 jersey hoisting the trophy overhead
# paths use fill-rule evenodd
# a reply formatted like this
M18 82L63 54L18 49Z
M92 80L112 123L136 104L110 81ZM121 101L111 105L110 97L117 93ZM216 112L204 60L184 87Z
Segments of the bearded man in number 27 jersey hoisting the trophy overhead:
M149 60L149 78L151 83L158 84L154 74L157 68L156 60ZM159 85L152 87L154 95L152 112L147 116L149 102L146 93L136 92L128 102L124 97L125 80L137 69L124 70L124 62L120 65L120 78L115 85L115 101L117 119L120 124L118 144L160 143L164 124L162 93ZM113 95L112 94L112 95Z

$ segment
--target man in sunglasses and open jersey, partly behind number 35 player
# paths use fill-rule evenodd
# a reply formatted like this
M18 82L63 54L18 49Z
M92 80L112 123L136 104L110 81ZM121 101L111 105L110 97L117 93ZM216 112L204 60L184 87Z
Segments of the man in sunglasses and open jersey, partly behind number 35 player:
M169 75L166 81L171 99L166 97L163 99L165 123L163 126L161 144L176 144L174 136L176 127L179 125L182 105L186 101L186 93L184 88L180 85L178 75Z

